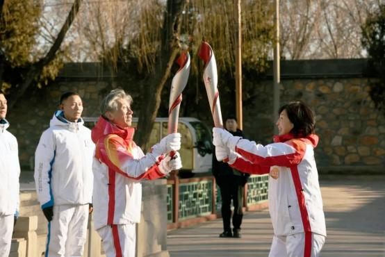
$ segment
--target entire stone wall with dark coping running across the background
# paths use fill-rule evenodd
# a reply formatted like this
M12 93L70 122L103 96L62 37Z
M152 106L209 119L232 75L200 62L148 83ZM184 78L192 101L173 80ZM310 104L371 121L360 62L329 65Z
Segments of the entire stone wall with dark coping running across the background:
M281 104L301 99L316 112L316 133L320 135L316 159L321 173L385 172L385 118L369 97L372 78L366 76L366 63L364 59L281 63ZM258 83L243 81L243 130L249 139L263 144L271 142L275 126L271 74L268 72L267 78ZM60 94L79 92L84 102L83 117L97 116L103 92L113 87L111 78L95 64L69 64L55 83L31 93L9 110L10 131L19 141L23 169L33 167L35 147L49 126ZM190 106L187 113L196 117L195 110L199 110L199 119L211 126L210 113L200 111L208 106L206 97L202 99L205 102ZM231 99L221 97L220 101L222 109L234 107L225 105Z

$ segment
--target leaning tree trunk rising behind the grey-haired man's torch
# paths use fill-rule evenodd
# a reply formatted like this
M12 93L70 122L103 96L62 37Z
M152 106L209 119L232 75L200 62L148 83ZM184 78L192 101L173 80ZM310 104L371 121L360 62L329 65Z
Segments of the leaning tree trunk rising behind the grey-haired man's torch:
M181 50L178 38L180 20L187 2L188 0L167 0L160 57L154 76L149 78L147 87L143 88L142 95L145 95L145 101L140 104L139 110L136 142L144 151L151 147L147 144L161 104L161 92L168 78L170 78L171 67ZM163 101L168 101L168 99L163 99Z

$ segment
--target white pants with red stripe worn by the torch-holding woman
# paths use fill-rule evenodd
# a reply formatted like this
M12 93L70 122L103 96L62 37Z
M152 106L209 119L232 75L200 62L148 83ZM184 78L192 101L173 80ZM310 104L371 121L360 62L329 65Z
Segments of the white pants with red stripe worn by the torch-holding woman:
M318 257L324 243L325 236L317 233L275 235L269 257Z

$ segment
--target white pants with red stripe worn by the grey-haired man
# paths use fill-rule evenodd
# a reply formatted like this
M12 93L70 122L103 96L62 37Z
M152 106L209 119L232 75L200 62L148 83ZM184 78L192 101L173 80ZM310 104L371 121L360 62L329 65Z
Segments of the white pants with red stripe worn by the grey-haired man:
M135 257L136 224L107 225L97 233L107 257Z

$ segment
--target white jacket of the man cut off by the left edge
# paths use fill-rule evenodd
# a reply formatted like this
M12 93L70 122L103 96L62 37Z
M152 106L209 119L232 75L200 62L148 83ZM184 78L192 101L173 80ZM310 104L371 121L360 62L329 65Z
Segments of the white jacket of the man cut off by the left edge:
M7 131L9 123L0 120L0 215L19 214L20 165L17 140Z

